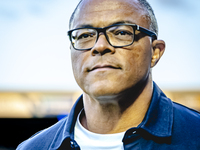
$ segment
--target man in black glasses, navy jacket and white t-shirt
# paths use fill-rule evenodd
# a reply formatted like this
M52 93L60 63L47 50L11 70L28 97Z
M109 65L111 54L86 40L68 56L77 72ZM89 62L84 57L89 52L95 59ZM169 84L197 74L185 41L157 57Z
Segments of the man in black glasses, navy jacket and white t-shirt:
M83 90L69 116L18 150L199 150L200 114L152 81L164 53L145 0L82 0L70 20L71 58Z

